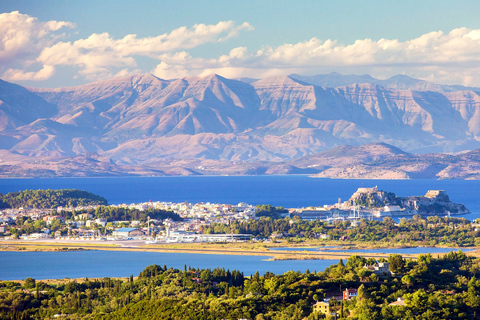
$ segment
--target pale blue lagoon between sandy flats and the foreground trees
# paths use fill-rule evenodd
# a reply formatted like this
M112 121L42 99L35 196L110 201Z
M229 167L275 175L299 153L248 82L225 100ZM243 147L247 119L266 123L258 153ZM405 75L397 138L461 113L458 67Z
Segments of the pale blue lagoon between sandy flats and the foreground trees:
M246 276L258 271L283 274L286 271L323 271L338 260L266 261L268 257L161 253L132 251L0 252L0 280L97 278L137 276L145 267L158 264L183 270L223 267L240 270Z

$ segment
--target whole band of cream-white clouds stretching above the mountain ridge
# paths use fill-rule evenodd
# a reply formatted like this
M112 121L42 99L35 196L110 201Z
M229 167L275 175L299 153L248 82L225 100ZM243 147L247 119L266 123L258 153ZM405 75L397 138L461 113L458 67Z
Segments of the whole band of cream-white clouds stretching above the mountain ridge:
M251 51L234 47L227 54L200 58L190 49L222 42L252 31L244 22L220 21L181 27L155 37L129 34L115 39L108 33L67 41L65 21L41 22L19 12L0 14L0 75L6 80L45 80L58 66L72 68L72 77L106 79L132 72L152 72L165 79L217 73L225 77L264 78L291 73L331 71L368 73L378 78L395 74L437 83L480 86L480 29L434 31L418 38L360 39L351 44L312 38ZM139 70L139 57L155 61L152 70Z

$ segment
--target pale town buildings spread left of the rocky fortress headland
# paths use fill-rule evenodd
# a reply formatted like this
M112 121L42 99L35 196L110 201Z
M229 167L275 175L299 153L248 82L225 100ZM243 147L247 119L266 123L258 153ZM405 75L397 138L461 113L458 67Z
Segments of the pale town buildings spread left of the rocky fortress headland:
M247 203L237 205L218 203L188 202L144 202L133 204L110 205L138 211L163 210L178 215L178 221L172 219L113 220L94 218L94 212L101 205L78 207L58 207L56 209L16 208L0 210L0 235L5 234L10 226L31 223L32 232L19 235L24 240L51 239L58 240L151 240L162 239L167 242L193 241L238 241L249 239L251 235L203 235L203 229L211 223L229 223L233 220L250 220L255 218L256 208ZM65 212L72 213L70 219ZM92 212L92 213L89 213ZM10 228L11 229L11 228ZM28 229L27 229L28 231ZM9 235L8 238L15 238Z

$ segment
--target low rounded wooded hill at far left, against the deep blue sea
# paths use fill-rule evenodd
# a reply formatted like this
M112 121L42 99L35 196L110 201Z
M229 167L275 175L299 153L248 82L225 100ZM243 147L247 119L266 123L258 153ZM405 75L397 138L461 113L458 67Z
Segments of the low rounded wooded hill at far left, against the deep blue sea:
M0 209L21 207L50 209L90 205L108 205L108 202L103 197L76 189L24 190L5 195L0 193Z

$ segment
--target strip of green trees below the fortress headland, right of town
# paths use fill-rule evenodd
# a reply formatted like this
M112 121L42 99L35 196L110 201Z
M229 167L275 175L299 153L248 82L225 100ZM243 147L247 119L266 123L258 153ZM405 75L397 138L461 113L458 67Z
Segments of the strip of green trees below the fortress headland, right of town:
M232 221L229 225L212 223L205 233L248 233L255 237L272 235L286 238L287 241L319 238L327 235L332 241L342 240L356 243L397 243L426 246L469 247L480 246L480 232L475 231L471 222L464 218L422 217L383 220L343 221L328 223L320 220L302 220L299 217L272 219L261 217L258 220Z

